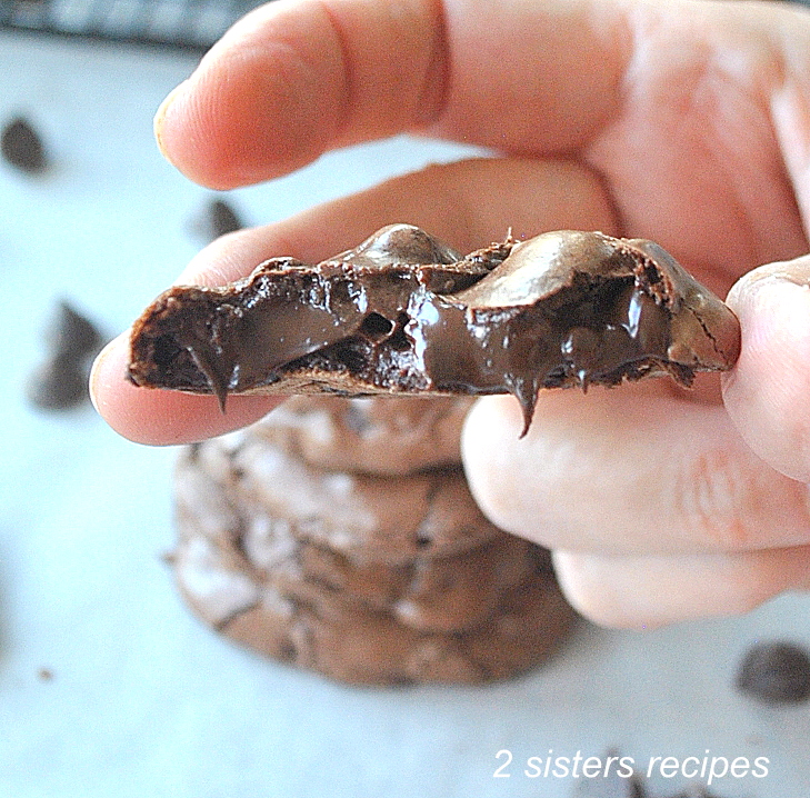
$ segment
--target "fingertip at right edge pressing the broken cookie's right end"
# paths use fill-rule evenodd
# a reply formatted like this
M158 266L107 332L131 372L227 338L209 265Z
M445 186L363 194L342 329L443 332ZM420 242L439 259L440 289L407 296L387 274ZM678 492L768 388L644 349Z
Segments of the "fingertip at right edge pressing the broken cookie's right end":
M810 256L749 272L728 303L742 330L723 386L729 415L773 468L810 481Z

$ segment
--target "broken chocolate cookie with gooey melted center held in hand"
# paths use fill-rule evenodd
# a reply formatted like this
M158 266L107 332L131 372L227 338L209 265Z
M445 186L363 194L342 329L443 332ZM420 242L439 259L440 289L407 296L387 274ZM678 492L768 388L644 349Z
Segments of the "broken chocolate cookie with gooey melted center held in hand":
M221 288L176 286L136 322L129 379L214 393L512 393L730 369L731 310L658 245L509 237L461 257L392 225L316 266L273 258Z

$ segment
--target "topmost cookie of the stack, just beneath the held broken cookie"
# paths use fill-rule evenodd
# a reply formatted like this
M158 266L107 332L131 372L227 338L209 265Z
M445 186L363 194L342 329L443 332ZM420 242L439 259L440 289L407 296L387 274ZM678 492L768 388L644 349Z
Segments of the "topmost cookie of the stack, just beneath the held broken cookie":
M310 466L401 476L459 465L469 397L298 396L260 421L257 435Z

